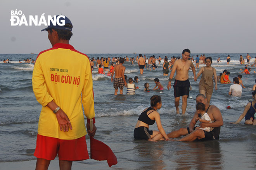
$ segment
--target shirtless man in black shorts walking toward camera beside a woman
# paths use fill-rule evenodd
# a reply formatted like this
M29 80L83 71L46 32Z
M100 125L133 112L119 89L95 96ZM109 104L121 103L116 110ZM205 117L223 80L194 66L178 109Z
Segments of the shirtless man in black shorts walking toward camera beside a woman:
M189 97L189 68L192 68L194 74L194 80L196 81L195 76L195 66L192 61L189 60L190 50L184 49L182 51L182 58L174 62L173 68L171 70L169 83L167 88L171 87L171 80L173 79L174 73L176 71L175 82L173 84L174 88L174 97L175 97L175 107L177 114L180 114L179 105L180 105L180 96L182 96L182 114L185 114L187 109L187 98Z

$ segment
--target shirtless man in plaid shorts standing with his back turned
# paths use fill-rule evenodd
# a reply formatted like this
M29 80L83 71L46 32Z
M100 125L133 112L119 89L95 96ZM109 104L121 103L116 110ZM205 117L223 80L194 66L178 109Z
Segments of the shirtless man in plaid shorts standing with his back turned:
M124 86L127 87L127 83L125 81L125 66L123 66L125 59L120 58L119 62L120 64L114 66L114 70L111 75L111 82L114 80L115 95L117 95L118 87L120 88L120 94L123 94ZM115 79L113 79L114 73Z

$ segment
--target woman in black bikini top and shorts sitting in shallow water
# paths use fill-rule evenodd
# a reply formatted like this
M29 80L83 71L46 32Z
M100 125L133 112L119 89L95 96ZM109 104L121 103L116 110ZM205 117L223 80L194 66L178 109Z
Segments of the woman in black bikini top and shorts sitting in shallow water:
M153 95L150 98L150 107L144 109L143 112L140 114L140 117L138 118L133 133L134 139L145 139L149 141L155 141L154 137L157 136L157 134L161 134L164 136L166 140L170 140L163 129L160 120L160 115L156 111L161 107L161 97L158 95ZM154 124L155 121L159 131L149 131L149 125Z

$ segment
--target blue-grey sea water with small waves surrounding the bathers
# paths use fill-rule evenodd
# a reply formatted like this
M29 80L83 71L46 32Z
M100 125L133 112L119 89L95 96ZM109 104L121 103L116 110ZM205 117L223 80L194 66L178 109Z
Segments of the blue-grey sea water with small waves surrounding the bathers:
M241 53L244 57L246 54ZM137 54L88 54L88 57L125 57L136 58ZM144 54L143 54L144 55ZM147 57L155 55L164 58L167 56L181 57L181 54L145 54ZM195 56L196 54L191 54ZM200 55L200 54L199 54ZM230 54L231 61L225 62L228 54L206 54L213 58L213 66L217 75L223 70L230 71L230 80L244 70L245 65L240 65L239 55ZM24 58L36 59L37 54L0 54L0 162L16 162L35 160L33 152L36 146L36 135L38 119L42 106L36 101L32 90L33 63L24 62ZM220 139L206 142L174 142L159 141L149 142L134 140L133 130L138 116L146 107L150 106L150 97L160 95L162 97L162 108L159 109L161 122L166 133L184 128L189 125L195 112L195 96L199 93L198 83L193 80L193 73L189 71L189 80L192 86L189 96L193 99L187 100L185 115L177 115L174 105L173 87L167 90L169 76L163 76L163 60L156 70L144 69L140 75L137 62L125 62L125 75L128 78L138 76L135 83L140 90L136 95L114 96L111 76L97 75L97 68L92 71L93 90L95 102L95 117L97 132L95 139L103 141L111 147L118 158L118 164L112 166L114 169L253 169L256 168L256 126L244 124L229 124L238 119L244 107L252 101L252 87L255 84L256 71L251 67L256 54L250 54L251 74L242 74L243 88L242 97L230 98L229 87L232 84L220 84L218 90L214 90L211 104L216 105L223 116L224 125L221 127ZM220 57L221 62L217 63ZM3 59L9 58L10 63L3 63ZM195 57L194 57L195 59ZM204 65L200 65L202 67ZM199 69L196 68L196 73ZM170 71L169 71L170 75ZM164 86L163 93L150 90L144 92L144 83L148 82L150 89L154 88L154 78ZM173 82L172 82L173 85ZM119 93L119 92L118 92ZM181 112L182 100L180 100ZM231 109L227 109L227 106ZM157 130L156 124L149 127ZM87 145L90 140L86 136ZM90 150L89 150L90 151ZM95 165L92 169L109 169L106 161L85 160L80 163Z

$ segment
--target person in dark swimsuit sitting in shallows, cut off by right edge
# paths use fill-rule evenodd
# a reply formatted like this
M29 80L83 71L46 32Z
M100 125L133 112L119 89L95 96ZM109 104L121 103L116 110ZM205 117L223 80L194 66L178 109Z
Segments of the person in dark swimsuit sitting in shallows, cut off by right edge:
M230 122L232 124L239 124L242 119L245 117L245 124L252 124L256 125L256 120L255 120L255 110L256 110L256 90L252 92L253 95L253 101L247 103L246 107L244 108L244 112L239 116L237 121L235 122Z

